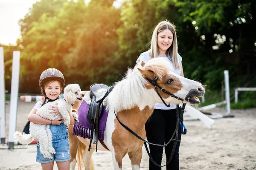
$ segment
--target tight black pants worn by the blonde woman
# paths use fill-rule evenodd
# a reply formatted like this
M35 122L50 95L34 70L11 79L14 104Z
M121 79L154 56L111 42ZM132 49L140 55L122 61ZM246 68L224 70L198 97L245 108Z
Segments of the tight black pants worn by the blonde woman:
M181 113L181 108L180 108ZM169 142L172 138L172 134L174 133L176 128L176 109L172 110L160 110L154 109L153 114L148 119L145 124L145 130L147 133L148 142L155 144L164 144ZM175 139L175 137L174 137ZM181 139L181 131L179 126L178 139ZM172 147L174 142L170 142L165 147L166 153L166 162L169 161ZM179 170L179 147L180 142L177 142L175 153L172 157L172 161L170 164L166 166L166 170ZM149 149L153 160L157 164L161 164L163 157L163 147L154 146L149 144ZM152 161L149 160L149 170L161 170L161 167L157 167L153 164Z

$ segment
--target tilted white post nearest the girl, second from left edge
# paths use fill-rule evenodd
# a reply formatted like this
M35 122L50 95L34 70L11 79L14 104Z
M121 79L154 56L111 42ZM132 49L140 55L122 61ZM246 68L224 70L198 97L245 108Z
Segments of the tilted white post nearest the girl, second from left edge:
M10 101L10 122L9 122L9 149L14 147L13 134L16 130L17 122L17 103L19 92L19 74L20 74L20 51L13 51L12 58L12 85Z

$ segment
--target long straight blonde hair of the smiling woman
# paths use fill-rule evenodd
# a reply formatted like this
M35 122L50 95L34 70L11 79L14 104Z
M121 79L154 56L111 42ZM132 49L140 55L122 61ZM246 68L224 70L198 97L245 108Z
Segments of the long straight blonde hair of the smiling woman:
M178 62L178 45L177 45L177 36L176 36L176 31L175 31L175 25L173 25L172 23L170 23L169 21L161 21L160 23L157 24L157 26L154 29L154 32L152 34L152 38L151 38L151 47L149 49L150 51L150 58L156 58L159 55L159 50L158 50L158 45L157 45L157 35L166 30L169 29L170 31L172 31L173 34L173 41L172 41L172 45L170 46L170 48L168 48L168 50L166 50L166 56L169 58L170 56L170 60L174 65L175 69L180 69L180 64Z

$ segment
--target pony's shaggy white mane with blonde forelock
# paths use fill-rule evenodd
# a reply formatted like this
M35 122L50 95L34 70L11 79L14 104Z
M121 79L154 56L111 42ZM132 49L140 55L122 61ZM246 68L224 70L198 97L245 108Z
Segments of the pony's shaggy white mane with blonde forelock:
M160 58L149 60L143 67L141 65L135 65L133 69L128 68L125 77L114 84L115 87L105 99L108 110L114 109L118 112L124 109L134 108L145 97L148 97L145 89L148 81L144 79L137 68L153 71L159 79L168 74L170 70L170 66L166 63L166 60Z

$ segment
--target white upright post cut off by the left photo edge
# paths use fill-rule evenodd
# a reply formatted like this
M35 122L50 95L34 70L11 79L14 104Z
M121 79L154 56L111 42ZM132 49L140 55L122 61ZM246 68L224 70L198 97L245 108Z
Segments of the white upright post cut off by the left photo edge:
M0 47L0 139L1 144L6 141L5 134L5 121L6 121L6 109L5 109L5 81L4 81L4 61L3 61L3 47Z

